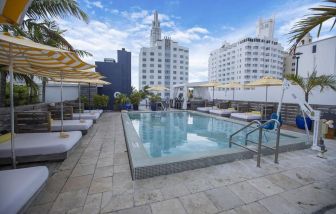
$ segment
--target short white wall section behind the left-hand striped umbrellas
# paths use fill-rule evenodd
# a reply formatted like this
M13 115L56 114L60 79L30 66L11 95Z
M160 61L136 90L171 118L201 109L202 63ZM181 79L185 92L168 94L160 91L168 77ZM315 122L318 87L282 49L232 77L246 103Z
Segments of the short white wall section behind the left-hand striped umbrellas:
M63 101L75 100L78 98L77 84L63 84ZM46 86L46 103L61 101L61 87L58 84L47 84Z

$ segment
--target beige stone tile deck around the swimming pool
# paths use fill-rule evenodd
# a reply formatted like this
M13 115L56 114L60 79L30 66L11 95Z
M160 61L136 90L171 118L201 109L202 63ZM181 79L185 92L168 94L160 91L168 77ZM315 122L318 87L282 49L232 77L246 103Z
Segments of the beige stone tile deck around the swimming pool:
M28 213L336 213L336 141L310 149L132 181L120 113L104 113ZM320 212L319 212L320 211Z

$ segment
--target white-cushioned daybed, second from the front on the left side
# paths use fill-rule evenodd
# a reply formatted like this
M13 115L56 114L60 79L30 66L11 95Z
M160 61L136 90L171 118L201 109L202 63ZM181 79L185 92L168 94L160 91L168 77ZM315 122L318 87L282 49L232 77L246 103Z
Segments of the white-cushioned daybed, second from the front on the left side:
M66 132L67 138L59 132L15 134L15 154L19 162L64 160L82 137L80 131ZM0 163L10 163L10 140L0 143Z

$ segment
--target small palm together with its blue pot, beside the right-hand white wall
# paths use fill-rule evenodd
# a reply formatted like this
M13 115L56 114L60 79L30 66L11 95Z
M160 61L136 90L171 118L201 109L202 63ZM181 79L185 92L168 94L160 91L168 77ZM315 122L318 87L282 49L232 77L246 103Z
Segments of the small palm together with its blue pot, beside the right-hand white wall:
M326 88L331 88L332 90L336 91L336 77L334 75L317 76L316 71L314 71L311 75L308 74L307 78L303 78L295 74L287 75L286 78L292 81L294 84L297 84L303 90L305 101L307 103L309 101L309 95L312 94L312 90L317 87L320 87L320 92ZM308 129L311 129L312 120L307 116L305 119ZM295 122L298 128L305 128L304 118L301 115L297 115Z

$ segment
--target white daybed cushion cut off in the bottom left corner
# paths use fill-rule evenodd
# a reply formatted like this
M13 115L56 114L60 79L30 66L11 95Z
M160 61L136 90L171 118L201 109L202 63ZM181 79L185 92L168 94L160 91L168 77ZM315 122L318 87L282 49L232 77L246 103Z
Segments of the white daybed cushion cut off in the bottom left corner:
M48 174L45 166L0 171L0 213L22 211L46 182Z

